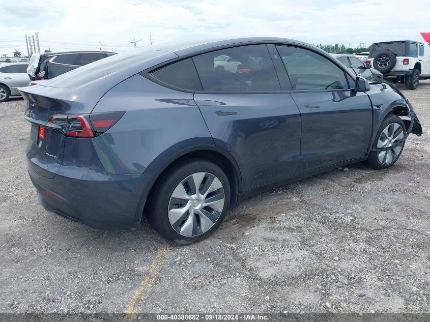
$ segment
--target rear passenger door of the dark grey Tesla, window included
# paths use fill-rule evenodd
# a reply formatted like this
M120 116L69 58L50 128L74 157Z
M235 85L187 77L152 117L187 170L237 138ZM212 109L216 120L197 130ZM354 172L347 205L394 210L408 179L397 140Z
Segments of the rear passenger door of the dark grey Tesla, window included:
M230 57L239 70L217 68ZM215 144L241 168L243 190L292 177L300 163L300 112L281 86L264 44L194 56L203 91L194 101Z

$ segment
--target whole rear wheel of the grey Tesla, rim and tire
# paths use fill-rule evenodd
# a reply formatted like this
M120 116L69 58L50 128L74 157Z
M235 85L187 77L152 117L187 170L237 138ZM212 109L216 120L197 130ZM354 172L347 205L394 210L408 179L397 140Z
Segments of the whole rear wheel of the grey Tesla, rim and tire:
M189 244L211 235L230 204L230 184L216 164L189 160L169 170L157 185L147 216L167 240Z

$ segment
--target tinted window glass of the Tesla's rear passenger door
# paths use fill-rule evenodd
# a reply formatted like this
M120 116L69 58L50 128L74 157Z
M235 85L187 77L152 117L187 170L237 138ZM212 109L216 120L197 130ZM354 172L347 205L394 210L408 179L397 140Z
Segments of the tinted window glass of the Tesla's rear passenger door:
M280 85L266 45L226 48L194 56L208 92L270 92Z

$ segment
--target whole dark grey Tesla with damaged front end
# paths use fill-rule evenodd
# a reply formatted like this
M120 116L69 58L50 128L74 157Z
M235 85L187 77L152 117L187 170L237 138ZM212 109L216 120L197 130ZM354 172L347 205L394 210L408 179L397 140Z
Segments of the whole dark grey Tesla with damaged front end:
M216 68L220 55L242 72ZM21 92L28 172L48 211L96 228L146 214L178 243L260 191L359 161L388 168L422 133L395 88L282 38L137 49Z

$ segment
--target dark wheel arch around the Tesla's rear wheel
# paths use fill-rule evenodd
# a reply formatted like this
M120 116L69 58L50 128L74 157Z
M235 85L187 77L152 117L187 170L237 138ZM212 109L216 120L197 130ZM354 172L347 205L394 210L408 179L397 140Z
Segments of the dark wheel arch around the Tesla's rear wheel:
M216 147L216 145L199 144L175 153L157 168L152 180L148 183L144 192L142 192L136 210L136 220L140 220L142 214L148 210L148 204L151 202L152 193L157 184L163 179L164 175L177 164L190 159L203 159L217 164L226 173L228 181L230 182L231 206L237 203L238 195L242 191L242 177L236 160L230 153Z

